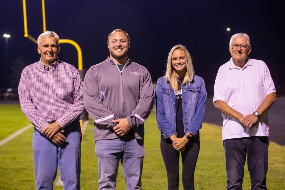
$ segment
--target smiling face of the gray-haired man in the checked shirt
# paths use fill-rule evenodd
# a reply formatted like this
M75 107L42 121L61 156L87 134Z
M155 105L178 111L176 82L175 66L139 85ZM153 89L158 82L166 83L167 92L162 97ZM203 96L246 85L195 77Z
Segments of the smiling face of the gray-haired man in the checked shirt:
M38 52L41 54L43 64L50 65L55 62L59 52L57 39L55 37L42 38Z

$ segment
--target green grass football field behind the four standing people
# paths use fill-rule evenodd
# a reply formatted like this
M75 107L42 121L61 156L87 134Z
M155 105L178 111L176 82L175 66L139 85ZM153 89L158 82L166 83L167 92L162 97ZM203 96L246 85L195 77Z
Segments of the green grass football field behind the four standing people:
M29 124L19 105L0 105L0 140ZM81 189L98 189L97 159L92 134L92 121L88 124L81 144ZM0 189L34 189L32 152L33 128L0 146ZM143 164L143 189L167 189L167 176L159 148L160 133L155 115L151 113L145 123L145 158ZM195 171L195 189L217 190L226 187L224 150L221 128L203 124L200 131L200 154ZM285 146L270 142L268 189L285 189ZM62 189L55 186L54 189ZM125 189L124 177L119 168L117 189ZM182 184L180 184L180 189ZM243 189L250 189L250 179L245 165Z

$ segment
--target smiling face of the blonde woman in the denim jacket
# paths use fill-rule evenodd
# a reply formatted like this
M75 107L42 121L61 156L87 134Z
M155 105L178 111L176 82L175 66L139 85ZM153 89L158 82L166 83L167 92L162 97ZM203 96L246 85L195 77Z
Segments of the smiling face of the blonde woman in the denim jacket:
M172 67L176 77L184 77L186 73L186 56L183 50L177 49L172 53Z

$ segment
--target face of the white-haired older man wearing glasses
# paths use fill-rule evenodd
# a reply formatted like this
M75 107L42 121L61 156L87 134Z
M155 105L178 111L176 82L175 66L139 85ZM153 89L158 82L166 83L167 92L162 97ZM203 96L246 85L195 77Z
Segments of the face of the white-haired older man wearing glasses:
M247 46L247 39L244 36L237 36L232 40L232 45L243 45L246 46L246 50L240 49L240 46L238 46L238 49L232 49L231 45L229 46L229 52L232 55L232 60L235 64L242 63L242 66L246 63L246 58L248 54L251 52L251 47ZM239 65L237 65L239 66Z

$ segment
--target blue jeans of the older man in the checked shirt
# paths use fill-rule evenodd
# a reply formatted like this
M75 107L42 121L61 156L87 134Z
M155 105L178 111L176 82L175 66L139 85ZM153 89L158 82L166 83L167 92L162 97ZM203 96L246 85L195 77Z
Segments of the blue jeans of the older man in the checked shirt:
M55 145L44 134L34 128L33 151L36 189L53 189L57 164L64 189L80 189L80 143L79 121L64 128L66 142Z

